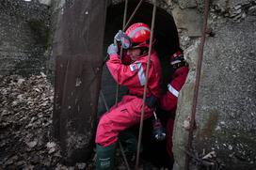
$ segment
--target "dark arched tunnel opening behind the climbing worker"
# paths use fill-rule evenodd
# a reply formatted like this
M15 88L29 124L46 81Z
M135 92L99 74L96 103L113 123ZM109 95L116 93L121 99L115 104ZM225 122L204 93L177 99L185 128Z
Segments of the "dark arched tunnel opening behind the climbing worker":
M136 8L137 2L136 1L129 1L128 9L127 9L127 20L132 15L134 9ZM106 14L106 22L105 22L105 32L104 32L104 56L106 55L107 47L110 43L113 43L113 38L115 34L122 28L122 18L123 18L123 11L124 11L124 2L111 5L107 8ZM132 22L133 23L147 23L151 26L152 23L152 4L143 3L142 6L136 12L136 15ZM176 24L171 14L169 14L166 10L162 8L157 8L156 11L156 18L155 18L155 25L154 25L154 39L156 42L154 44L154 49L156 50L157 54L159 55L159 59L161 62L161 69L162 69L162 89L163 93L166 92L169 79L171 74L174 70L169 65L169 56L174 54L178 48L180 47L179 36ZM116 100L116 89L117 84L110 75L109 71L107 70L106 66L104 66L103 75L102 75L102 92L104 94L104 99L106 100L107 106L110 108L115 104ZM127 94L127 89L123 86L120 86L120 94L119 100L121 100L122 96ZM106 112L103 97L100 95L99 97L99 105L98 105L98 117L102 116ZM148 151L150 147L157 146L160 152L166 151L166 141L162 142L155 142L152 141L149 144L145 144L143 140L147 140L149 136L152 136L152 120L146 120L147 122L144 123L144 129L147 131L143 132L144 139L142 139L142 145L144 145L143 158L147 159L149 162L154 162L154 165L161 166L162 164L166 164L168 162L165 160L165 157L148 157L147 155L155 155L159 156L159 151L153 150ZM138 132L138 126L133 127L132 131L135 133ZM137 135L137 133L136 133ZM144 143L144 144L143 144ZM147 149L148 148L148 149ZM157 154L158 153L158 154ZM146 156L145 156L146 155ZM161 154L160 154L161 155ZM166 157L168 158L168 157ZM152 159L154 159L152 161ZM162 159L162 160L161 160Z

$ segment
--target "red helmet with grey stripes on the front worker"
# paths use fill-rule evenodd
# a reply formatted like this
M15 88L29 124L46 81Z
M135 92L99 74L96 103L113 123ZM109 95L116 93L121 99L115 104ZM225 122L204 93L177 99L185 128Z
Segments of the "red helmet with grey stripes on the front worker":
M134 23L126 31L125 35L132 41L131 48L150 47L151 28L145 23Z

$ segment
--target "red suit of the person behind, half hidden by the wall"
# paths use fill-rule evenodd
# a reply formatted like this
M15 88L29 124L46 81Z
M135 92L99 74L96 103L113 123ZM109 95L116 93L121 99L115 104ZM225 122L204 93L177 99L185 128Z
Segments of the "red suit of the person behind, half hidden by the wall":
M175 70L172 76L172 79L168 84L167 93L160 98L160 108L162 110L168 111L169 114L175 114L179 92L184 85L187 74L188 74L187 66L184 66ZM173 162L173 153L172 153L173 125L174 125L174 119L169 117L166 124L166 130L167 130L167 150L168 150L168 156L169 156L170 162Z

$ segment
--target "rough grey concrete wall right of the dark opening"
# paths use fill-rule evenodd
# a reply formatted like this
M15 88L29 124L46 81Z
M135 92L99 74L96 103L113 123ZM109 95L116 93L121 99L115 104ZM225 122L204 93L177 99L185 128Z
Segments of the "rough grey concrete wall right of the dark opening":
M183 126L191 113L200 43L196 28L202 26L201 20L191 22L191 13L193 18L202 15L197 2L191 5L191 1L180 0L173 9L190 63L174 131L174 155L181 169L188 135ZM193 154L201 158L215 151L219 163L224 163L227 169L253 169L256 164L255 7L255 1L213 1L208 21L215 37L208 37L205 43Z

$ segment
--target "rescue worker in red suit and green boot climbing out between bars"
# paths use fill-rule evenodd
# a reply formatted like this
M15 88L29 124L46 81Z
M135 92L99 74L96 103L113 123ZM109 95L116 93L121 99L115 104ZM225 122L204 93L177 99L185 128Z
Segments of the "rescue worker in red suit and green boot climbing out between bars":
M96 132L96 169L113 169L115 149L120 131L139 123L142 109L142 96L146 83L148 48L151 37L150 27L145 23L132 24L125 33L115 36L121 46L127 49L120 60L117 43L111 44L107 53L106 66L119 85L128 87L129 93L100 118ZM161 68L157 54L152 50L148 77L147 102L144 118L152 116L153 105L160 98Z

